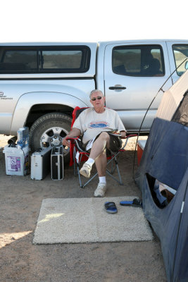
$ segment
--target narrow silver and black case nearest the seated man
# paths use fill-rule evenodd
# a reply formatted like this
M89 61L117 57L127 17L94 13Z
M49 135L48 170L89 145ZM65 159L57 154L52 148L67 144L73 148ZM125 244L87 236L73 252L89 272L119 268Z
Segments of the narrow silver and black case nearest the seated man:
M51 179L62 180L63 173L63 146L53 147L51 150Z

